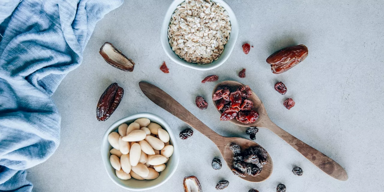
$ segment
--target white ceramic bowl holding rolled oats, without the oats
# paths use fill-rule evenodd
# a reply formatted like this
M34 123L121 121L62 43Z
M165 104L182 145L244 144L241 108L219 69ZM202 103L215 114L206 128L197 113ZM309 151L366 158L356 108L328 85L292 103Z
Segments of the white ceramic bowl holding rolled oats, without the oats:
M237 40L238 31L239 31L239 27L238 27L235 13L233 13L232 8L229 7L229 5L227 3L225 3L223 0L212 0L215 3L220 3L220 5L223 8L225 8L225 10L227 10L227 12L228 12L230 22L232 25L232 31L230 33L230 38L229 38L227 44L224 45L223 53L219 56L219 58L216 61L213 61L212 63L209 63L209 64L202 64L202 65L199 65L197 63L188 63L187 61L184 61L182 58L177 56L174 51L172 51L172 47L168 43L169 40L168 40L168 36L167 36L168 35L168 26L169 26L172 14L175 12L176 7L184 1L185 0L174 0L172 2L172 4L169 6L167 13L164 17L163 24L161 26L161 35L160 35L161 45L163 46L164 51L169 56L169 58L172 61L175 61L175 63L178 63L182 66L186 66L186 67L189 67L189 68L192 68L195 70L202 70L202 71L217 68L218 66L222 65L228 59L229 55L231 55L231 53L232 53L233 48L235 47L235 43Z

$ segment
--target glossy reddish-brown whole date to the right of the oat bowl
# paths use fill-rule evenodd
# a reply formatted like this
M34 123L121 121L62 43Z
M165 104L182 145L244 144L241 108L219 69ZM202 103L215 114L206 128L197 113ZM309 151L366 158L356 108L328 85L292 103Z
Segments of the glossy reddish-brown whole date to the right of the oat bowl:
M272 73L278 74L288 71L307 56L308 48L305 45L297 45L276 51L266 59L266 62L271 64Z

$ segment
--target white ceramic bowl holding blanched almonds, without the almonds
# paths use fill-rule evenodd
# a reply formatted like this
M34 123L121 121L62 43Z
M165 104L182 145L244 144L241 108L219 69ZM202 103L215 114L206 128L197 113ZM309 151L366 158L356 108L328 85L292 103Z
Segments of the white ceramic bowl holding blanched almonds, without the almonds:
M160 172L159 177L157 177L156 179L136 180L132 177L129 180L121 180L116 176L115 169L113 169L111 163L109 162L109 156L111 156L109 151L112 149L112 146L108 142L108 135L112 131L117 132L119 125L123 123L129 124L139 118L148 118L151 120L151 122L156 122L157 124L161 125L165 130L167 130L170 137L170 144L174 146L174 152L172 156L169 157L169 160L166 163L166 169ZM175 134L173 134L172 129L170 129L170 126L166 121L164 121L164 119L152 113L138 113L114 122L105 132L103 142L101 143L101 157L103 158L103 163L109 178L111 178L112 181L120 187L128 190L149 190L164 184L176 171L177 165L179 164L179 156L179 146L177 145L176 137Z

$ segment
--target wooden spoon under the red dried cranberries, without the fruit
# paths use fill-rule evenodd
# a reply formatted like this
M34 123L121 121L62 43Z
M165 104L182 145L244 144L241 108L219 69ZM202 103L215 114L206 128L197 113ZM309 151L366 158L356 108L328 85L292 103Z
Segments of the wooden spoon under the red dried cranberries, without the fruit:
M235 91L238 87L244 86L244 84L239 83L237 81L222 81L216 85L212 93L212 96L217 90L217 88L220 86L227 86L231 91ZM243 127L265 127L271 130L272 132L274 132L279 137L281 137L281 139L283 139L288 144L290 144L293 148L295 148L298 152L300 152L304 157L306 157L313 164L319 167L319 169L323 170L326 174L331 175L333 178L338 180L348 179L347 172L337 162L333 161L331 158L317 151L313 147L305 144L303 141L300 141L299 139L292 136L288 132L278 127L275 123L273 123L271 119L268 117L268 114L266 113L263 102L258 98L258 96L253 91L252 91L252 95L247 99L253 101L253 106L254 106L253 110L259 113L259 118L257 119L257 121L250 124L244 124L242 122L237 121L236 119L232 119L230 120L230 122ZM217 102L214 101L215 106L216 106L216 103ZM220 111L219 113L221 114Z

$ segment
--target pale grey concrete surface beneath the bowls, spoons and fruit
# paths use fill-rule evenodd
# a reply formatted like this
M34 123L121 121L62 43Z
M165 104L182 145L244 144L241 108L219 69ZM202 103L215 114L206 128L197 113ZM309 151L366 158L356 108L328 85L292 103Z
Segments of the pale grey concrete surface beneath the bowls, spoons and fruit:
M254 1L227 0L237 15L240 33L232 55L219 68L196 71L173 63L160 44L162 17L171 0L133 1L101 20L84 50L83 64L59 86L53 99L62 116L61 144L48 161L28 170L35 192L118 192L104 170L100 145L104 131L116 120L137 112L162 116L175 132L187 127L179 119L147 99L139 81L156 84L189 109L202 122L223 136L248 137L245 129L220 122L210 106L200 111L196 96L210 98L215 83L202 84L207 75L248 84L265 104L272 121L343 166L349 180L329 177L282 139L260 129L256 142L273 159L273 174L262 183L246 182L227 168L214 170L213 157L220 157L215 145L195 131L179 140L180 164L172 178L151 191L182 191L182 179L195 175L205 192L215 191L221 179L230 181L223 191L274 192L283 183L287 192L382 191L384 115L384 2L365 1ZM136 62L132 73L108 65L98 51L111 42ZM241 45L254 46L248 55ZM283 74L273 74L265 59L280 48L304 44L309 56ZM170 73L159 70L166 61ZM247 77L237 73L247 68ZM273 85L283 81L285 96ZM104 89L117 82L125 89L115 113L105 122L96 120L96 103ZM287 110L285 98L296 106ZM294 166L302 177L291 173Z

